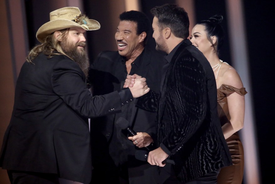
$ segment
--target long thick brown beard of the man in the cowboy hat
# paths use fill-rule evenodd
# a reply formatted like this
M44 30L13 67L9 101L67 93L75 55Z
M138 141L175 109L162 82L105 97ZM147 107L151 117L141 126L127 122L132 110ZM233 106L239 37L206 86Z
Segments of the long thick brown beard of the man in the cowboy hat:
M61 48L69 56L74 62L76 62L81 70L83 71L86 79L88 78L88 72L90 67L90 62L88 55L85 51L85 47L78 49L77 46L85 46L85 42L78 42L76 45L66 40L65 42L61 42Z

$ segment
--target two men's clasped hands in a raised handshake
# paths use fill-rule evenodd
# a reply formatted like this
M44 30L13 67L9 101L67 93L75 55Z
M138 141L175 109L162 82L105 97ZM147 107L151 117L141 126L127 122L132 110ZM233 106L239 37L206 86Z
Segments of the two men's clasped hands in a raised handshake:
M145 95L150 91L150 88L147 86L146 79L136 74L127 75L123 87L129 87L134 98Z

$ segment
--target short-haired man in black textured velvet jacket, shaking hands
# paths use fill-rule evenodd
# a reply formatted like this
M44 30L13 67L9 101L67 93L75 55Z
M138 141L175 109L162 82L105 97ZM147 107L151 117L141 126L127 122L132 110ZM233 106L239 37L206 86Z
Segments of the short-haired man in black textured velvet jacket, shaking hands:
M216 184L221 167L231 158L217 113L213 70L198 48L187 39L188 14L175 4L151 9L156 49L167 53L161 92L150 91L136 105L157 112L157 147L148 162L160 166L165 183ZM129 82L139 76L128 76ZM150 86L150 85L149 85ZM166 164L165 159L175 164Z

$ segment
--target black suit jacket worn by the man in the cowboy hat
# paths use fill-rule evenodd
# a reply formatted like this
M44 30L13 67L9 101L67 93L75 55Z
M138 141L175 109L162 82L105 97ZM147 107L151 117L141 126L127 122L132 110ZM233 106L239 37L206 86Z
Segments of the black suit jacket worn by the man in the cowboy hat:
M92 158L88 117L120 112L121 103L130 101L124 99L124 92L92 96L78 64L64 55L47 59L40 54L33 64L25 62L16 84L0 166L56 173L64 179L89 183Z

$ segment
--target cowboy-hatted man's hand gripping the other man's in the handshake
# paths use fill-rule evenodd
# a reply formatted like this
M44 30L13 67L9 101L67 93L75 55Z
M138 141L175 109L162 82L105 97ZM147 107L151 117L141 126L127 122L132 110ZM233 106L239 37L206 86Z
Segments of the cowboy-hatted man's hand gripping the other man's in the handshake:
M150 91L150 88L147 86L146 79L141 78L140 76L135 78L133 87L129 86L129 89L134 98L138 98L142 95L145 95Z

